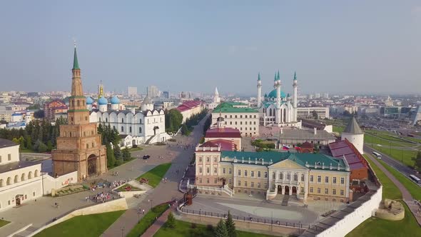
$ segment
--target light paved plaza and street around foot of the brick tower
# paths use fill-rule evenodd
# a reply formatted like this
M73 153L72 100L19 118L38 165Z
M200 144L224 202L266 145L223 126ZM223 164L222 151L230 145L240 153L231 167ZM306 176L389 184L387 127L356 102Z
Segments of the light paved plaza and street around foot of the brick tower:
M203 121L200 126L197 126L190 137L176 136L177 141L182 144L196 144L198 139L201 137L201 129ZM177 142L170 142L170 146L143 146L142 151L133 151L132 156L135 157L133 161L129 161L121 166L109 170L101 176L91 178L87 182L95 180L106 180L106 181L121 181L126 179L137 178L141 174L146 173L155 166L161 163L172 163L170 170L166 174L168 181L161 183L157 188L149 190L143 194L141 198L128 198L127 203L129 210L126 211L128 215L123 214L116 223L121 221L126 226L126 229L130 229L126 223L137 222L138 214L137 210L141 206L146 210L148 207L157 205L165 201L171 200L171 198L180 198L182 193L178 191L178 181L183 176L183 171L191 161L193 157L193 148L185 149L181 145L177 146ZM150 155L151 158L143 160L143 155ZM161 157L161 158L160 158ZM43 171L49 171L51 169L51 159L43 161ZM176 172L176 171L179 172ZM118 176L113 176L113 172L118 172ZM98 188L96 191L83 191L81 193L74 193L67 196L61 197L49 197L43 196L36 199L36 201L29 201L19 208L9 208L6 211L0 212L0 218L11 221L8 225L0 228L0 236L8 236L11 233L32 224L34 228L32 230L44 226L45 223L51 221L57 216L61 216L64 213L72 211L75 208L81 208L83 206L92 205L91 201L86 202L86 196L92 196L102 191L109 191L107 188ZM152 200L152 201L148 201ZM59 208L54 206L54 203L59 203ZM131 215L130 215L131 214ZM127 221L125 217L130 218ZM135 223L133 223L134 226ZM132 226L132 227L133 227ZM121 236L121 227L118 227L118 236ZM108 229L108 235L104 236L116 236L113 233L114 228Z

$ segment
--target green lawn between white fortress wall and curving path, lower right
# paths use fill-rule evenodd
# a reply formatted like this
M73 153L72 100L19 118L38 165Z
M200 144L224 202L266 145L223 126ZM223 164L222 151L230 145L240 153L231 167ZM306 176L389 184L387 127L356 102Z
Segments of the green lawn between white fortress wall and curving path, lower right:
M383 173L380 170L380 168L378 168L370 159L368 159L367 157L366 159L370 163L370 166L372 167L372 169L375 171L377 178L379 178L380 182L383 185L383 198L390 198L390 199L402 198L402 193L400 193L399 189L395 186L395 184L392 183L392 181L390 181L390 178L387 178L385 173ZM405 207L405 218L403 218L401 221L387 221L387 220L382 220L380 218L370 217L366 221L361 223L360 226L357 226L357 228L353 229L346 236L347 237L421 236L420 226L415 220L415 217L412 216L412 213L409 210L409 208L407 208L406 204L403 203L403 205Z

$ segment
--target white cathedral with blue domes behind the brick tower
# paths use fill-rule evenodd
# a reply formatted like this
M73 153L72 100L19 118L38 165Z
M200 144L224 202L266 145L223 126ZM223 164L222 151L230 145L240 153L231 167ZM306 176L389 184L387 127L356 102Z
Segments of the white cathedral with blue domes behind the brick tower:
M124 109L117 96L111 97L109 101L110 103L103 96L100 96L98 101L93 101L91 97L88 97L86 108L91 111L89 121L116 128L120 135L130 135L131 141L126 142L126 146L163 142L171 138L165 131L163 109L153 109L153 102L148 96L138 110ZM96 109L93 106L95 102Z

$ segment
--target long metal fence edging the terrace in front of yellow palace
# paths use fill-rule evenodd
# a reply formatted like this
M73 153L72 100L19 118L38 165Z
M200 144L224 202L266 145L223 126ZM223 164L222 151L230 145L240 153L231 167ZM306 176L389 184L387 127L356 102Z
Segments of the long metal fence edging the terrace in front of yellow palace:
M212 211L202 211L202 210L192 210L188 208L180 208L180 211L187 214L193 214L193 215L199 215L199 216L210 216L215 218L227 218L228 213L217 213ZM253 223L265 223L275 226L287 226L287 227L294 227L294 228L310 228L310 225L303 224L303 223L295 223L295 222L288 222L288 221L282 221L275 218L256 218L253 216L238 216L238 215L231 215L233 216L233 220L238 221L250 221ZM320 228L320 227L319 227Z

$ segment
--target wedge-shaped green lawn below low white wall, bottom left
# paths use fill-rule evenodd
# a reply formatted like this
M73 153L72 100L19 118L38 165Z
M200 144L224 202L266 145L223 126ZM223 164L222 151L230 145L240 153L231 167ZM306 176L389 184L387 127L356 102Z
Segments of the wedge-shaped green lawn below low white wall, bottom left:
M103 231L106 231L106 229L124 212L125 211L111 211L86 216L76 216L67 221L58 223L55 226L46 228L44 231L36 234L35 237L98 237L101 236Z

